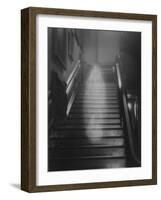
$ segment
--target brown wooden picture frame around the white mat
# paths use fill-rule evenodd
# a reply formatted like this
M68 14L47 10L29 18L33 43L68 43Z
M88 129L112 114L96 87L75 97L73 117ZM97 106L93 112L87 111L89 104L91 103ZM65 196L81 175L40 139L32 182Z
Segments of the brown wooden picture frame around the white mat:
M152 160L151 178L95 181L71 184L37 185L36 167L36 18L38 15L80 17L106 20L135 20L152 23ZM72 47L70 47L72 48ZM71 54L71 53L70 53ZM157 16L147 14L97 12L66 10L54 8L29 7L21 11L21 189L27 192L46 192L58 190L93 189L157 184Z

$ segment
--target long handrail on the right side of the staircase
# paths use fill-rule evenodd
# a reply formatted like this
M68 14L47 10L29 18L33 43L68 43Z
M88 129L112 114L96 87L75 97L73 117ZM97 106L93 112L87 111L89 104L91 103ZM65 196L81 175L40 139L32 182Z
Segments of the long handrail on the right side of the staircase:
M130 146L130 151L131 154L134 158L134 160L137 162L137 164L140 165L140 160L137 158L137 155L135 153L135 148L134 148L134 143L133 143L133 133L132 133L132 127L131 127L131 122L130 122L130 116L128 112L128 104L127 104L127 98L125 94L125 89L122 84L122 78L121 78L121 72L119 69L119 63L116 63L116 74L117 74L117 79L118 79L118 86L119 89L122 93L122 102L123 102L123 107L124 107L124 114L125 114L125 120L126 120L126 128L127 128L127 133L128 133L128 140L129 140L129 146Z

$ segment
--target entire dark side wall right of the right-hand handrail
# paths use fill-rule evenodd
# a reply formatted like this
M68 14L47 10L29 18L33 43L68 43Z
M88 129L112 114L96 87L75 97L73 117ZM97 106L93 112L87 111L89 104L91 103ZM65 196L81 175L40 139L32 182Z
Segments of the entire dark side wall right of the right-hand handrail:
M120 37L123 84L132 95L128 100L134 149L141 160L141 33L127 32Z

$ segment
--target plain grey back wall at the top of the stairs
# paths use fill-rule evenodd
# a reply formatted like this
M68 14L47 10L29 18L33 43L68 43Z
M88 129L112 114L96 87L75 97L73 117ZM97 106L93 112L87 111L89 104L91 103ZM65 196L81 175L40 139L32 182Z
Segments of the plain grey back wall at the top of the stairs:
M84 30L83 60L88 64L111 64L119 52L119 32Z

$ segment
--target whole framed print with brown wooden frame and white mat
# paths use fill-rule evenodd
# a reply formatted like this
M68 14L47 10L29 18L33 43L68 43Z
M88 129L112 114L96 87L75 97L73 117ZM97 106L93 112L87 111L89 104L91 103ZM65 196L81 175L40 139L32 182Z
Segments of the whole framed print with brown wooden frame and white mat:
M157 16L21 11L21 188L157 183Z

